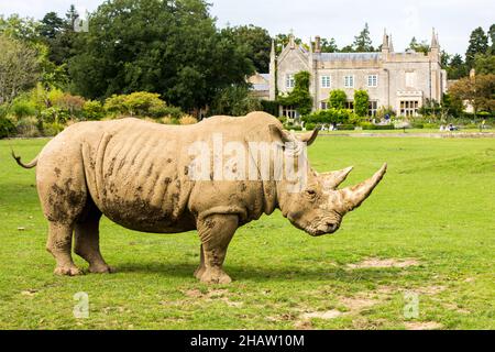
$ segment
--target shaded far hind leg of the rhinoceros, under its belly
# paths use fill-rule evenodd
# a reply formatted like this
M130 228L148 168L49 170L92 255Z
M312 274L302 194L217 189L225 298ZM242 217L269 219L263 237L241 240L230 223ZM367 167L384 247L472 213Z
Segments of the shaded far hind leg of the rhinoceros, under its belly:
M111 273L100 252L100 223L101 212L91 205L91 209L84 220L76 222L74 252L89 263L90 273Z

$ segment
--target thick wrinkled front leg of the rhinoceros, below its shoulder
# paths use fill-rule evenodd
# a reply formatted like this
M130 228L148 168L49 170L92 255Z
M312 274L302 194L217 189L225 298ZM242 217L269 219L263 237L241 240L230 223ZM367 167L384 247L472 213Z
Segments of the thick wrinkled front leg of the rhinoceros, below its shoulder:
M198 220L202 263L195 275L202 283L229 284L231 278L223 270L227 248L239 226L235 215L212 215Z

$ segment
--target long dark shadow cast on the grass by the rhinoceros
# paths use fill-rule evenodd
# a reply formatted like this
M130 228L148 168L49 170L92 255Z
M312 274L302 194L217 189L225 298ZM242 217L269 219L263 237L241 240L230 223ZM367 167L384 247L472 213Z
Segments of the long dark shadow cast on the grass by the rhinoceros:
M118 273L161 274L172 277L193 277L197 265L178 263L132 263L113 266ZM234 280L256 282L319 282L319 280L382 280L398 278L407 271L405 268L361 268L345 270L344 266L329 268L305 268L295 266L254 266L226 265L226 272Z

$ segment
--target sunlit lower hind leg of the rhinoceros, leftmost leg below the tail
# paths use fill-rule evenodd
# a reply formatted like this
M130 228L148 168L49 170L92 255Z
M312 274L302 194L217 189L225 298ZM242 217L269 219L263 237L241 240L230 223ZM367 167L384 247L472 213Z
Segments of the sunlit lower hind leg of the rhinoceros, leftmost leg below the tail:
M82 272L74 264L70 255L73 227L66 223L50 221L46 250L57 262L54 273L57 275L80 275Z

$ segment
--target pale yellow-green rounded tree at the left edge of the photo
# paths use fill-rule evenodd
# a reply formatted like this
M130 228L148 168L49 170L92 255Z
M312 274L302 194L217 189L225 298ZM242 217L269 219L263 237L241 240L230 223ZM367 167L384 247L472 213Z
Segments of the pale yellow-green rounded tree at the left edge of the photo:
M0 34L0 105L33 88L40 78L37 52Z

